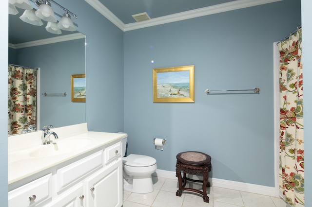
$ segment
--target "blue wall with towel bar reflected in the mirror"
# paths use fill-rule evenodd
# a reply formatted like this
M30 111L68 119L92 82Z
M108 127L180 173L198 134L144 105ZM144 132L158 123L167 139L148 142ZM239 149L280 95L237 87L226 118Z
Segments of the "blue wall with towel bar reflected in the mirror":
M85 39L22 48L16 56L17 65L40 68L40 128L86 121L86 104L71 102L70 76L85 73ZM45 97L45 92L66 92L67 96Z

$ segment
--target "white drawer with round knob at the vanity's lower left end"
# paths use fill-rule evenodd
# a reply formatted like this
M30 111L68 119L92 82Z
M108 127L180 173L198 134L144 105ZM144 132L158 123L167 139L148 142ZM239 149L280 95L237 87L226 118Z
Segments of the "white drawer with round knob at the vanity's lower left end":
M30 196L36 197L30 201ZM30 207L52 197L52 174L47 174L8 192L9 207Z

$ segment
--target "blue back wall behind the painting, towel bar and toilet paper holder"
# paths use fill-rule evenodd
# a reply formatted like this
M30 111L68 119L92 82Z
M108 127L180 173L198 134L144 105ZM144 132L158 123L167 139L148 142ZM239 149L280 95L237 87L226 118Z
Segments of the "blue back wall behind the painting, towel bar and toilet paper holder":
M273 42L299 25L300 1L284 0L125 32L128 154L175 172L176 154L200 151L212 156L210 176L274 187ZM188 65L195 103L153 103L152 69ZM260 94L205 93L254 87ZM167 139L164 151L155 137Z

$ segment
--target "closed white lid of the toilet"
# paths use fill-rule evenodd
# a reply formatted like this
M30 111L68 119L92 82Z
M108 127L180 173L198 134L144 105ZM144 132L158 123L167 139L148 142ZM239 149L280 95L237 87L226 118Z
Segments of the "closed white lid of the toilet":
M156 159L146 155L128 155L122 158L124 165L132 167L147 167L156 164Z

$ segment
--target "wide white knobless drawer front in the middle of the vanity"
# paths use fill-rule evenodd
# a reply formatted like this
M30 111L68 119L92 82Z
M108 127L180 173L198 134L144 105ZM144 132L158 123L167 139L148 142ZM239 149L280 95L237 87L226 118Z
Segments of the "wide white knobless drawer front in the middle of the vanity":
M94 169L103 166L103 150L80 159L57 171L57 192L77 181L82 176L92 172Z

